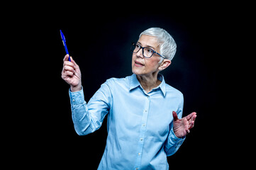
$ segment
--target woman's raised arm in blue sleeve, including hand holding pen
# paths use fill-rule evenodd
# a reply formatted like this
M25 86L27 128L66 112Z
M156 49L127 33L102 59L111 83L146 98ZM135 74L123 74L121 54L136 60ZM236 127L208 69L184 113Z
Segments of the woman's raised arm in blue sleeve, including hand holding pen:
M78 135L87 135L101 127L104 117L108 114L111 103L111 91L107 82L101 85L87 103L81 83L79 66L68 55L64 57L62 79L70 85L69 98L72 110L74 129Z

